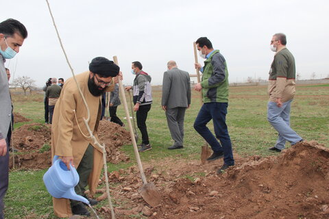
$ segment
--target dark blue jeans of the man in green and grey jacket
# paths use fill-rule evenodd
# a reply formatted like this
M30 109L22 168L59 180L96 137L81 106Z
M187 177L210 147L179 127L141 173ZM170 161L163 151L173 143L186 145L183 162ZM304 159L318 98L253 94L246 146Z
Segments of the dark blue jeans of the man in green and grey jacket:
M228 103L204 103L202 105L197 118L195 118L194 129L208 142L212 151L215 153L224 153L224 164L228 166L234 165L232 143L228 134L228 126L226 125L226 114L228 113ZM212 119L216 138L206 127L207 123Z

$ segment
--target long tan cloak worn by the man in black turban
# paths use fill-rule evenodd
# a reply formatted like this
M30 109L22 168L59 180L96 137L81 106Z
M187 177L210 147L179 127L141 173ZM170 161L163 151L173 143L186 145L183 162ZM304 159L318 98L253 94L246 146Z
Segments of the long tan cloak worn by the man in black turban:
M90 110L89 127L97 136L97 128L99 118L101 116L101 96L93 96L88 90L89 72L75 76L80 85L82 93L86 98ZM106 91L112 91L114 84L108 87ZM76 115L76 116L75 116ZM83 99L77 89L74 79L71 77L65 82L60 98L56 103L53 112L53 124L51 125L51 155L58 156L73 156L75 168L80 164L80 161L86 151L88 144L92 144L84 119L87 118L87 110ZM82 130L79 130L79 127ZM95 193L101 168L103 168L103 155L101 149L94 146L94 162L93 170L89 176L89 189L91 193ZM72 215L69 199L53 198L53 210L56 216L67 218Z

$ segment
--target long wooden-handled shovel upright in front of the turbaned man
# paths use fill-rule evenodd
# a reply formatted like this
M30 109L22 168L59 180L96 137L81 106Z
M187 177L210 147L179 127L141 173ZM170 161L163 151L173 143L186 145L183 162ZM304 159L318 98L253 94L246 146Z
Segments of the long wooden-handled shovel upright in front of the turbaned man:
M113 61L115 64L118 64L117 56L113 57ZM120 88L120 95L122 96L123 99L123 106L125 107L125 116L127 116L127 118L130 118L128 107L127 107L127 101L125 99L125 91L121 79L119 79L119 88ZM143 186L138 190L138 192L139 194L141 194L141 196L144 198L147 204L151 205L151 207L156 207L161 202L161 196L158 190L156 190L156 186L154 185L154 183L147 183L146 181L146 177L141 162L141 157L139 157L136 140L134 138L134 131L132 130L132 121L130 119L127 119L127 123L130 130L130 137L132 138L132 146L134 147L134 153L136 156L138 169L139 172L141 172L141 178L143 181Z

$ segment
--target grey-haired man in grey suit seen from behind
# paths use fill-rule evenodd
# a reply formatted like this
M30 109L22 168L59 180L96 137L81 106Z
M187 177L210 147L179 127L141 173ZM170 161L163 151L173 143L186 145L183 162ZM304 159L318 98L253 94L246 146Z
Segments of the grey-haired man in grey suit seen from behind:
M175 61L167 63L163 74L162 109L166 112L171 138L175 141L168 149L182 149L185 111L191 104L190 75L177 67Z

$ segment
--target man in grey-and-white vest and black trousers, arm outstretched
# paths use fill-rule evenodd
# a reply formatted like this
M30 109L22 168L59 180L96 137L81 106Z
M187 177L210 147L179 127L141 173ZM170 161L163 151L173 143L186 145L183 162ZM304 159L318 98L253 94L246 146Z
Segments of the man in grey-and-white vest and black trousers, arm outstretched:
M142 133L142 144L138 146L139 152L152 149L149 144L149 134L147 133L146 119L149 110L151 110L151 76L142 70L141 62L132 62L132 74L136 75L133 86L126 86L125 90L133 90L134 111L136 112L137 127Z

